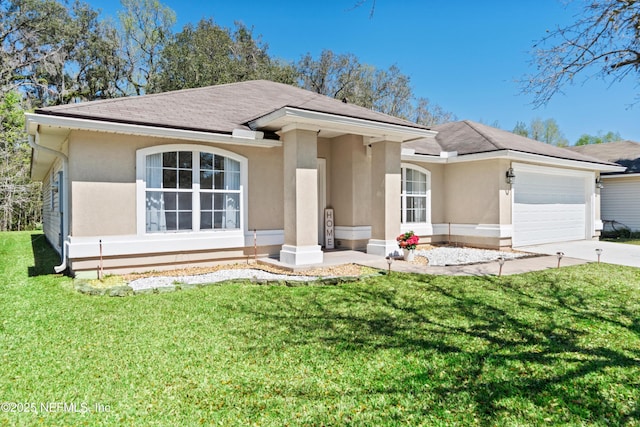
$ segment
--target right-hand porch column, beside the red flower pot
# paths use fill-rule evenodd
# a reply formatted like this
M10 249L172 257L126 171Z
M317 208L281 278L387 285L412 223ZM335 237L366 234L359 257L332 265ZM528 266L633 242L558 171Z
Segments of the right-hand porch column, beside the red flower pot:
M371 147L371 239L367 253L387 256L398 251L400 234L401 143L376 142Z

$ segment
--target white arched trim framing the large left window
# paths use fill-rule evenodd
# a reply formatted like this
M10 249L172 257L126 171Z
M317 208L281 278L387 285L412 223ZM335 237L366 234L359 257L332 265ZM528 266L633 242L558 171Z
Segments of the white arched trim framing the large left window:
M238 229L214 229L201 231L181 231L171 233L148 233L146 231L145 196L146 196L146 157L150 154L167 151L198 151L228 157L240 163L240 227ZM139 238L144 240L165 240L168 235L173 239L202 239L210 235L216 240L216 247L243 247L244 235L247 232L249 218L248 181L249 161L246 157L217 147L198 144L167 144L142 148L136 151L136 231ZM194 211L200 211L199 204ZM194 215L199 218L199 215ZM194 224L195 225L195 224ZM223 239L221 241L220 239Z

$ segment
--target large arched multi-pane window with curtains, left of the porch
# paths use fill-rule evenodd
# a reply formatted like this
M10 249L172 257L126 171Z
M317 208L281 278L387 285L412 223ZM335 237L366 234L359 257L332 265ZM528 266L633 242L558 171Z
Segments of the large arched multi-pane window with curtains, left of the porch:
M141 151L146 233L241 229L239 156L204 149Z

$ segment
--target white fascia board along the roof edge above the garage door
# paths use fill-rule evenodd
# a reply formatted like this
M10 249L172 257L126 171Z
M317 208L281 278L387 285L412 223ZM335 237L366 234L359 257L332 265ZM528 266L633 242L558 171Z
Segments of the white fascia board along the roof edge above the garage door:
M625 170L623 166L609 166L601 163L583 162L580 160L560 159L557 157L543 156L540 154L522 153L520 151L500 150L490 151L487 153L475 153L475 154L463 154L457 157L441 158L441 161L436 161L435 156L402 156L402 160L415 160L425 163L462 163L462 162L474 162L478 160L490 160L490 159L509 159L521 162L535 162L539 164L556 166L556 167L568 167L576 169L597 170L600 172L621 172ZM604 178L604 177L603 177Z

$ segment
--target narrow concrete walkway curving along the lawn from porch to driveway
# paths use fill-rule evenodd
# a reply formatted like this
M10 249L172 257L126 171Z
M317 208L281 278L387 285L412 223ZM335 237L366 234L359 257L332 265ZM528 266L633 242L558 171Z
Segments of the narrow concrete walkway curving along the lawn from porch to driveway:
M557 251L556 251L557 252ZM389 265L384 257L369 255L359 251L333 251L325 252L324 262L322 264L303 265L292 268L289 265L280 263L278 260L272 258L263 258L261 263L278 266L291 271L302 271L311 268L323 268L332 267L341 264L359 264L367 267L377 268L380 270L387 270ZM587 261L582 259L575 259L571 257L563 257L560 265L567 267L571 265L585 264ZM548 268L556 268L558 266L558 258L553 256L532 256L526 258L517 258L513 260L507 260L502 267L503 275L521 274L530 271L546 270ZM449 276L497 276L500 270L500 266L496 261L471 264L471 265L456 265L456 266L429 266L420 263L411 263L402 260L394 260L391 264L391 270L399 271L403 273L419 273L419 274L437 274L437 275L449 275Z

